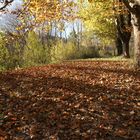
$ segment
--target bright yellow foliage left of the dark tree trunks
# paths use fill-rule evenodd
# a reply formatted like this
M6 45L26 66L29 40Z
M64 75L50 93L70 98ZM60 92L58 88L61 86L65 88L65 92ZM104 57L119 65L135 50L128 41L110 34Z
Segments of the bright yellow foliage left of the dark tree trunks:
M111 42L115 37L115 18L112 7L111 0L94 1L86 6L83 4L79 11L79 16L83 19L86 30L96 34L102 41L110 40Z

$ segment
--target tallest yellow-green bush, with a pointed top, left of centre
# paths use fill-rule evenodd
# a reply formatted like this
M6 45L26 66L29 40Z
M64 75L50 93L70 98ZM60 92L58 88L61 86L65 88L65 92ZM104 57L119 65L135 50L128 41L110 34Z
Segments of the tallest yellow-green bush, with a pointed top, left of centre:
M23 53L24 66L50 63L50 50L41 44L35 32L29 32L26 42Z

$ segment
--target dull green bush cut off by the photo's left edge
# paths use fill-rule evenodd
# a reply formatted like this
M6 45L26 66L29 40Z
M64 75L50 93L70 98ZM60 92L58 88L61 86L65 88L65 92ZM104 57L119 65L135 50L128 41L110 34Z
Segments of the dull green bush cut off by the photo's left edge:
M23 64L22 49L18 42L9 44L4 39L4 35L0 36L0 69L13 69L21 67Z

